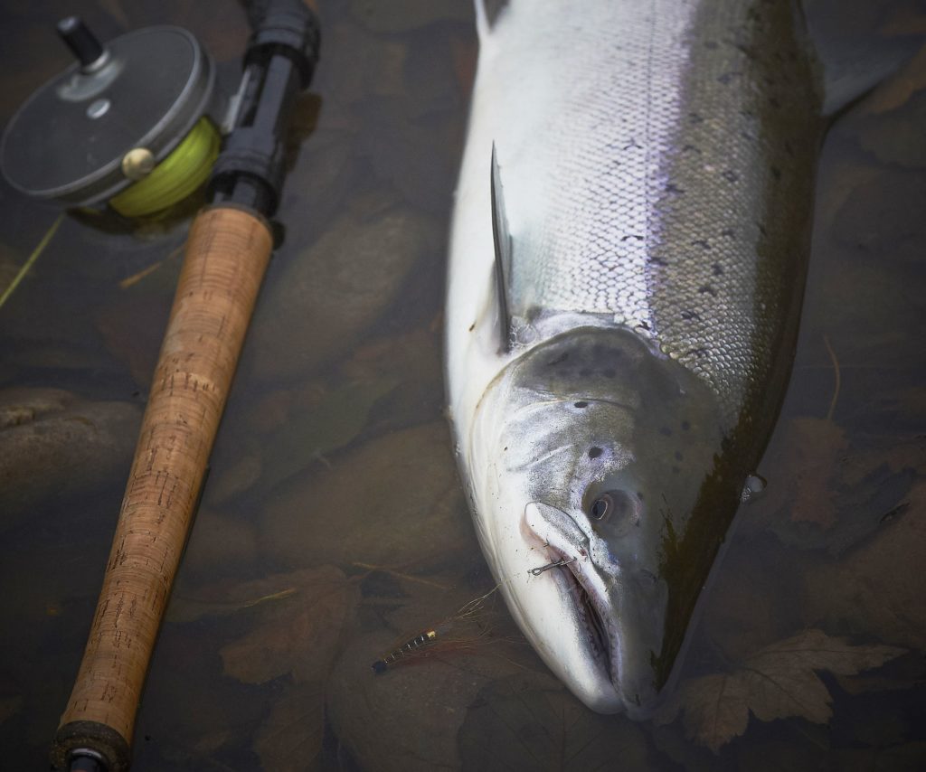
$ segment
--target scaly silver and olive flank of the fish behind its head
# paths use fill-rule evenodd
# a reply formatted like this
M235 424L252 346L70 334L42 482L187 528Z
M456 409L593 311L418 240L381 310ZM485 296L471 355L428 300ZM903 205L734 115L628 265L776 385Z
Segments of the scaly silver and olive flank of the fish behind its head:
M593 3L569 34L537 19L529 44L502 19L488 53L500 79L507 68L529 72L512 87L544 89L548 108L530 126L531 113L503 99L510 110L494 132L517 253L512 307L613 315L705 378L728 428L781 337L776 308L790 305L795 271L758 264L793 251L782 227L800 229L802 218L782 202L807 206L816 150L798 41L779 37L777 56L752 53L782 32L755 10L766 5ZM764 131L770 105L787 131ZM508 156L521 140L507 137L532 129L569 142Z

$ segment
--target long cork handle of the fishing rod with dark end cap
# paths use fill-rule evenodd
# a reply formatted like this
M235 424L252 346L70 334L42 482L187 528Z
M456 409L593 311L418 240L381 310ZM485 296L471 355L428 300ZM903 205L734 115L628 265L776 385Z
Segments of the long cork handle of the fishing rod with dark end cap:
M108 772L130 764L148 661L180 563L272 237L257 216L201 212L135 449L103 589L52 761L81 749Z

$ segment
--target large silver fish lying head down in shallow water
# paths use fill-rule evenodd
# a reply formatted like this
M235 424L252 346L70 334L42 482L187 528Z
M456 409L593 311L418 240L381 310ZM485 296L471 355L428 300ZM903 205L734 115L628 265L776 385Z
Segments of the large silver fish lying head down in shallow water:
M458 462L538 653L594 709L644 716L786 384L814 68L788 0L478 9L446 314Z

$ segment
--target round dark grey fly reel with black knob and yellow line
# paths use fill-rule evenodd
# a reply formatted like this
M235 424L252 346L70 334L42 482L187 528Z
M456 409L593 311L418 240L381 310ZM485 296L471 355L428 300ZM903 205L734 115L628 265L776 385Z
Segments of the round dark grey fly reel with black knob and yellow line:
M180 27L101 45L76 17L58 33L78 61L19 108L0 144L6 181L31 198L108 205L141 218L203 185L219 156L225 100L215 66Z

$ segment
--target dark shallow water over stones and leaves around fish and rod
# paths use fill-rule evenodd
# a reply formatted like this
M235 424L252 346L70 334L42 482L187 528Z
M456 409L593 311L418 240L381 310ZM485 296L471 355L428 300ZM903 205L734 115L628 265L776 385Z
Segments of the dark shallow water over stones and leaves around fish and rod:
M921 4L839 9L849 50L926 31ZM68 63L52 24L75 10L103 38L185 26L236 80L246 29L230 0L9 2L4 122ZM633 724L569 696L493 596L457 615L492 589L441 412L469 3L323 11L287 238L158 642L134 768L926 766L926 63L828 135L794 376L758 470L769 487L738 520L676 700ZM5 285L56 213L6 187L0 212ZM68 218L0 308L4 769L47 766L184 227ZM447 645L373 675L373 660L434 627Z

